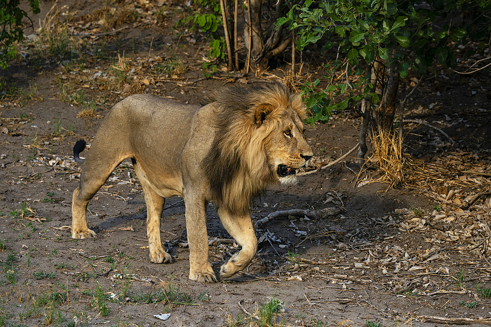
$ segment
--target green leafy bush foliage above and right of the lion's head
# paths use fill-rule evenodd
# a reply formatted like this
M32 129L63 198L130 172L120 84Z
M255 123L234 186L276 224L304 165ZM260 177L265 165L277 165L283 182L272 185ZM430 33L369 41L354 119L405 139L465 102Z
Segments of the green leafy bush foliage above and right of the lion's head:
M322 50L336 51L336 59L324 65L331 83L319 92L314 91L319 81L302 87L311 122L326 122L332 110L355 107L361 99L371 105L380 101L369 78L381 59L386 66L396 62L402 78L410 68L425 74L436 64L453 67L451 45L489 36L491 22L483 20L483 14L490 8L485 0L429 0L425 5L409 0L306 0L293 5L276 26L288 24L296 30L298 50L319 43ZM477 28L452 19L469 9ZM342 78L335 79L335 74ZM344 101L335 102L340 95Z

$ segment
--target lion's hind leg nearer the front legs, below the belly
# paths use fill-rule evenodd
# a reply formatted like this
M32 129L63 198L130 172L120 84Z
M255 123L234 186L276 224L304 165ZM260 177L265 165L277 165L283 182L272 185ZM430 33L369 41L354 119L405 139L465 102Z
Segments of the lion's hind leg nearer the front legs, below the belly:
M136 177L143 189L143 196L147 206L147 237L150 261L153 263L172 262L172 257L165 252L160 238L160 219L164 209L165 199L158 195L149 185L145 174L141 171L136 160L132 159Z

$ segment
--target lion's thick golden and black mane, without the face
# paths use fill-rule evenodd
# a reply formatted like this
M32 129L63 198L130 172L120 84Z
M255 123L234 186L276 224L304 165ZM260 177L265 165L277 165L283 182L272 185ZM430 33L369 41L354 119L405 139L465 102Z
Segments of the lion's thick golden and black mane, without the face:
M281 83L224 87L208 95L202 104L211 102L217 103L216 135L202 161L210 183L208 196L218 207L245 215L254 197L276 180L274 167L268 163L271 133L290 108L303 120L305 106ZM256 117L260 106L270 108L266 128L261 129Z

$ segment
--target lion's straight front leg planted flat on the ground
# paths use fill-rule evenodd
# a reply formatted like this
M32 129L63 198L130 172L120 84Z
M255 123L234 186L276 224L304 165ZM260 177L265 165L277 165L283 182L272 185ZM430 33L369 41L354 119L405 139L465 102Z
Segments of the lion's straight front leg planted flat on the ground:
M189 243L189 278L198 282L217 282L208 261L206 203L204 199L186 195L186 229Z

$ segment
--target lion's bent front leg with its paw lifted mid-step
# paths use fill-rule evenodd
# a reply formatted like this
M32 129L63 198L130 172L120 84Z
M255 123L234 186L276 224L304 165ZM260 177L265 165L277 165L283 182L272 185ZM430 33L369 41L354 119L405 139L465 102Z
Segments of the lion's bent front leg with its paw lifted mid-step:
M234 216L225 209L218 209L218 216L228 233L242 246L220 268L220 277L227 278L243 270L257 252L257 238L249 215Z

